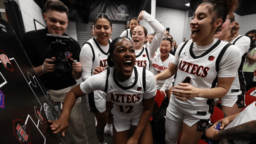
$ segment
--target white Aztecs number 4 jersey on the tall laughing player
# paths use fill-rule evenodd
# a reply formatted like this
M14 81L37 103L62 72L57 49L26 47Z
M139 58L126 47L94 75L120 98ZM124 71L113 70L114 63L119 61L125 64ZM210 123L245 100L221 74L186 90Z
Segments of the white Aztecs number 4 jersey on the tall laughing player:
M180 50L174 87L179 86L178 83L190 83L196 88L210 89L214 82L217 83L219 62L225 52L224 46L231 44L217 40L212 47L199 56L193 54L193 44L193 41L189 40L184 48ZM215 78L216 80L214 81ZM177 104L177 106L196 109L197 111L194 112L196 115L206 115L208 111L212 113L214 108L213 99L195 97L190 100L181 101L172 94L171 101ZM209 118L209 113L206 117Z

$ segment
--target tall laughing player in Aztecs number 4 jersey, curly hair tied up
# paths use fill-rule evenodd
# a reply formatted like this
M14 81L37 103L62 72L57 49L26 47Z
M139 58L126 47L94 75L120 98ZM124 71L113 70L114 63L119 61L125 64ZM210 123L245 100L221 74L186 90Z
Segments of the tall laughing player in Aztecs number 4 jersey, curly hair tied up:
M235 45L214 38L237 0L204 0L190 22L191 38L178 46L169 68L156 75L167 79L177 72L167 107L165 141L197 144L209 125L215 98L228 93L241 63ZM217 86L216 86L217 84Z

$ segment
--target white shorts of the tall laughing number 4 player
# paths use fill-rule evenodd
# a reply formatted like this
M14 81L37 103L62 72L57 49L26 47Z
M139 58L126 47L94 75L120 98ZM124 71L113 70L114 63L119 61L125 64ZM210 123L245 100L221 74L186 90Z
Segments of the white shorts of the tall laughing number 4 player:
M192 127L199 120L205 120L210 118L210 113L207 111L206 115L196 115L192 114L192 110L190 107L175 107L171 101L167 107L166 117L170 120L177 122L184 122L189 127Z

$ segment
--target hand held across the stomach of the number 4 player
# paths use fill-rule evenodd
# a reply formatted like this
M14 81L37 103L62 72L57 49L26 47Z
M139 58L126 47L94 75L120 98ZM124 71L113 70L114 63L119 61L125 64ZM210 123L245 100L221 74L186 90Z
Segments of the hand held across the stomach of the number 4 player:
M174 88L180 90L172 90L172 94L176 95L176 98L179 100L193 99L199 94L199 89L189 83L178 83L178 85L181 87L175 86Z

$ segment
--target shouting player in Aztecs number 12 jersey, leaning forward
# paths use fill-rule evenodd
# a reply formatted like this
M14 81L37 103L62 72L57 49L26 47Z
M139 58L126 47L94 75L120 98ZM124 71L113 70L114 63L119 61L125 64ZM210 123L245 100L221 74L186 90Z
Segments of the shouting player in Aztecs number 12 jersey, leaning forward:
M49 121L53 133L68 128L75 100L95 90L106 92L107 109L113 115L114 144L153 144L149 118L156 95L153 73L135 65L135 52L128 38L116 38L110 44L109 68L93 75L70 90L59 120ZM113 105L113 108L112 108ZM129 130L134 130L129 138Z

